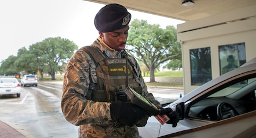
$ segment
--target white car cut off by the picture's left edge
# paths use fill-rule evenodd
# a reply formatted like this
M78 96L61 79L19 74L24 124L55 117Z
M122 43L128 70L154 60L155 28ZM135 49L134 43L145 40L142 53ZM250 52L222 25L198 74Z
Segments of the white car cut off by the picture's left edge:
M0 95L16 94L20 97L21 88L17 78L0 78Z

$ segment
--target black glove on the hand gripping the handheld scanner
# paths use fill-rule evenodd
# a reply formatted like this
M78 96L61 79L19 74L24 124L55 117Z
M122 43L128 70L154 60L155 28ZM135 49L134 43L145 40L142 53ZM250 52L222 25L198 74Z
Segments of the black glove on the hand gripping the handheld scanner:
M112 120L127 126L133 126L143 119L147 112L132 103L117 101L110 104L110 116Z

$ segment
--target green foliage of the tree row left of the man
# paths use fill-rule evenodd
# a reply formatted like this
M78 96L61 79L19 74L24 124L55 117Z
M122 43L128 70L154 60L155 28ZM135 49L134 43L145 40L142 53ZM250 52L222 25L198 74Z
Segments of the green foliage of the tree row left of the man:
M14 57L8 57L1 64L0 73L7 74L7 70L10 68L8 65L13 65L15 71L17 70L15 74L21 71L36 74L37 71L40 71L40 74L50 74L54 80L55 72L63 72L63 66L68 63L69 58L77 49L78 46L68 39L46 38L42 42L30 45L29 50L25 47L20 48L15 60L13 60Z

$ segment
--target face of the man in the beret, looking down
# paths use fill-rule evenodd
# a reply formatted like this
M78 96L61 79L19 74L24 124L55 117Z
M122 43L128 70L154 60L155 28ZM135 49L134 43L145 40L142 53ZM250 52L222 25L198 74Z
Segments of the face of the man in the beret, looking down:
M102 40L114 50L124 50L127 42L129 26L123 29L116 29L113 32L99 32Z

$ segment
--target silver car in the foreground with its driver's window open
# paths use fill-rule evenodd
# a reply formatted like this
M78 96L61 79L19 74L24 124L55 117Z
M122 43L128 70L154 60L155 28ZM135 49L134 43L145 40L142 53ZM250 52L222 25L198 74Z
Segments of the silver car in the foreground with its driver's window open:
M256 58L165 107L178 112L178 126L152 116L141 137L256 137Z

